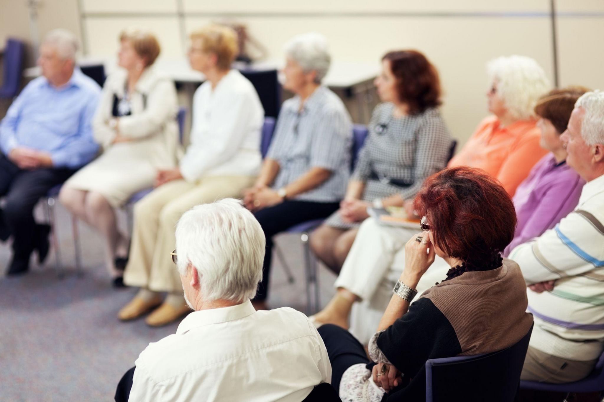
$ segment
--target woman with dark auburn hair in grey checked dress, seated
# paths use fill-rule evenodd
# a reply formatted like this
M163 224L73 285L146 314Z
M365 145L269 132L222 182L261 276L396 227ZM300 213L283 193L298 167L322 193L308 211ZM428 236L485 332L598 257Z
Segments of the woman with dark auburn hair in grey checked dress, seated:
M316 256L336 272L368 218L367 208L413 199L425 178L445 167L452 142L438 109L439 75L423 54L388 52L375 85L384 103L373 111L345 198L310 237Z

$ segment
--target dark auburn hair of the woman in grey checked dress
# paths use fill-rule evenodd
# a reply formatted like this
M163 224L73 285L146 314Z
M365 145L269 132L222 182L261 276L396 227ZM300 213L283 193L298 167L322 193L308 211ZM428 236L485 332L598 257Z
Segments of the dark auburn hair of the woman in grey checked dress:
M425 55L416 50L388 52L382 60L390 61L390 70L398 81L399 100L409 107L410 115L440 106L439 72Z

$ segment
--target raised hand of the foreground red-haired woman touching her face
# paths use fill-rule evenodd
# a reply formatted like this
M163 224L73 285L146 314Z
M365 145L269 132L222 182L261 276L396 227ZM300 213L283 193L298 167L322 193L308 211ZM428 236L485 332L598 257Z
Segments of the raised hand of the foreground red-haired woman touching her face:
M404 280L402 282L415 289L417 282L434 262L434 257L434 247L430 243L429 231L423 231L411 237L405 244L405 269L401 275L410 283L405 283Z

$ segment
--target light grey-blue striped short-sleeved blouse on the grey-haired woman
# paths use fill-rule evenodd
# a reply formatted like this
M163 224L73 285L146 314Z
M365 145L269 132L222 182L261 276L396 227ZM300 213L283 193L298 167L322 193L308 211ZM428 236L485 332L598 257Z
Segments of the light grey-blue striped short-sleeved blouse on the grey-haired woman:
M280 189L309 171L324 168L332 175L320 186L293 199L333 203L344 197L350 176L352 121L344 103L327 87L320 86L300 108L300 96L283 102L275 134L266 157L280 169L272 187Z

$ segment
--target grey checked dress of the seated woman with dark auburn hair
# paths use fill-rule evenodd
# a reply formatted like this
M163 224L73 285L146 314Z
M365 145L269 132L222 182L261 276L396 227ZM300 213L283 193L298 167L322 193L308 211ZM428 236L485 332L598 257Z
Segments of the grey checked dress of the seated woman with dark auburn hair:
M365 182L361 196L364 201L396 193L403 199L412 199L423 181L445 168L448 162L452 138L437 108L402 118L394 118L393 111L391 103L376 106L369 122L369 135L359 153L352 178ZM381 178L403 180L408 186L372 179L372 172ZM359 225L342 221L339 212L327 218L326 224L342 229Z

